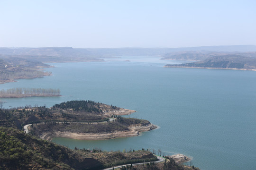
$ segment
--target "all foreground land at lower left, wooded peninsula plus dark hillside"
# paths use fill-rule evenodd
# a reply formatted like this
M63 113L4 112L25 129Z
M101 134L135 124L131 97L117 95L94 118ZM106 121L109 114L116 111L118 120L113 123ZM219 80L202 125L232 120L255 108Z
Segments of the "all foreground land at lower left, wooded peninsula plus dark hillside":
M165 156L161 158L162 161L158 161L160 163L156 164L155 161L159 157L144 148L138 151L130 149L122 152L104 152L97 148L78 149L76 147L72 150L43 140L45 133L52 137L57 134L56 132L88 133L95 135L95 139L99 139L102 134L129 132L131 128L134 128L133 130L137 133L155 128L155 125L147 120L120 116L132 112L135 111L90 100L62 102L51 108L0 109L0 169L102 170L112 169L117 165L124 165L131 170L197 169L178 163L188 161L189 158L185 156L179 156L182 159L177 160L175 156ZM146 128L143 129L143 127ZM132 165L138 162L145 162L145 164Z

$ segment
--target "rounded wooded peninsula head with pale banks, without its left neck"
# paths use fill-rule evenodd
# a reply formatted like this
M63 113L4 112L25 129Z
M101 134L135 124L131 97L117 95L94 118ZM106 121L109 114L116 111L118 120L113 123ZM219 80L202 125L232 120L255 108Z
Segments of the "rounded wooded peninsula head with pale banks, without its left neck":
M50 110L49 110L50 111ZM68 101L56 104L51 112L61 114L42 123L29 126L35 136L51 140L52 137L102 140L138 136L139 132L156 128L147 120L123 118L134 110L126 110L92 101Z

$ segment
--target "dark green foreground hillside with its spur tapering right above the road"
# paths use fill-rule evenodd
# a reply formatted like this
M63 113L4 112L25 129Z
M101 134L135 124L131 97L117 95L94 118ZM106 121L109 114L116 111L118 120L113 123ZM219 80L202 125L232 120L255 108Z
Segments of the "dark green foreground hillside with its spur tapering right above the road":
M103 152L101 149L69 149L37 139L14 128L0 127L0 170L101 170L156 161L149 151Z

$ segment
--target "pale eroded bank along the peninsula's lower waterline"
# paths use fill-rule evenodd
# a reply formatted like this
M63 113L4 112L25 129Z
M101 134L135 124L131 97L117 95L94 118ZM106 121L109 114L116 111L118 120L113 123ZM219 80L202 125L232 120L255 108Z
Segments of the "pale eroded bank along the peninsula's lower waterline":
M114 131L110 133L71 133L71 132L50 132L43 133L40 138L51 140L53 137L66 137L72 139L82 139L82 140L105 140L105 139L114 139L118 137L131 137L138 136L139 132L150 131L155 129L156 126L153 124L148 124L146 126L133 126L129 127L129 130L124 131Z

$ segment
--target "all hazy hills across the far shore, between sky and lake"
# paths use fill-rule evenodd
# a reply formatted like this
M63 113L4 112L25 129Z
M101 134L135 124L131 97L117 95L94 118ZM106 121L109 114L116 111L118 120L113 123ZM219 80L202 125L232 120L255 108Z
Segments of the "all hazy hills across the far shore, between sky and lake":
M0 48L0 70L27 64L29 67L48 67L41 62L102 61L117 56L159 56L162 59L192 60L182 65L165 67L239 68L255 69L256 45L205 46L187 48ZM19 64L17 64L19 61ZM197 61L197 62L195 62ZM199 62L198 62L199 61ZM223 61L228 64L220 64ZM9 64L6 64L9 63ZM13 64L11 64L13 63ZM21 63L21 64L20 64ZM211 63L211 64L210 64ZM232 64L236 63L236 64ZM23 65L22 65L23 64ZM7 65L7 66L6 66ZM243 65L243 67L242 67ZM218 67L217 67L218 66ZM4 68L5 67L5 68ZM24 65L25 67L25 65ZM9 68L9 71L10 68Z

